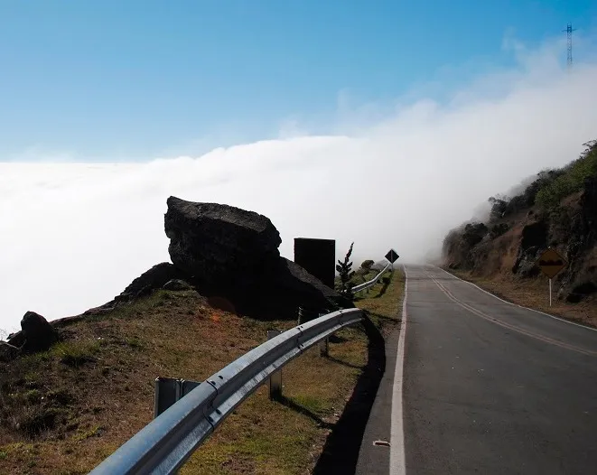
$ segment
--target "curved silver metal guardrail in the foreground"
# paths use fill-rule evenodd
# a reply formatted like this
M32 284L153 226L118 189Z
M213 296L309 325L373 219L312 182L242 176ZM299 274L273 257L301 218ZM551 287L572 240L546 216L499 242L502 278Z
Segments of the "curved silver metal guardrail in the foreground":
M173 473L270 375L320 340L362 319L359 309L340 310L267 340L192 389L90 474Z

